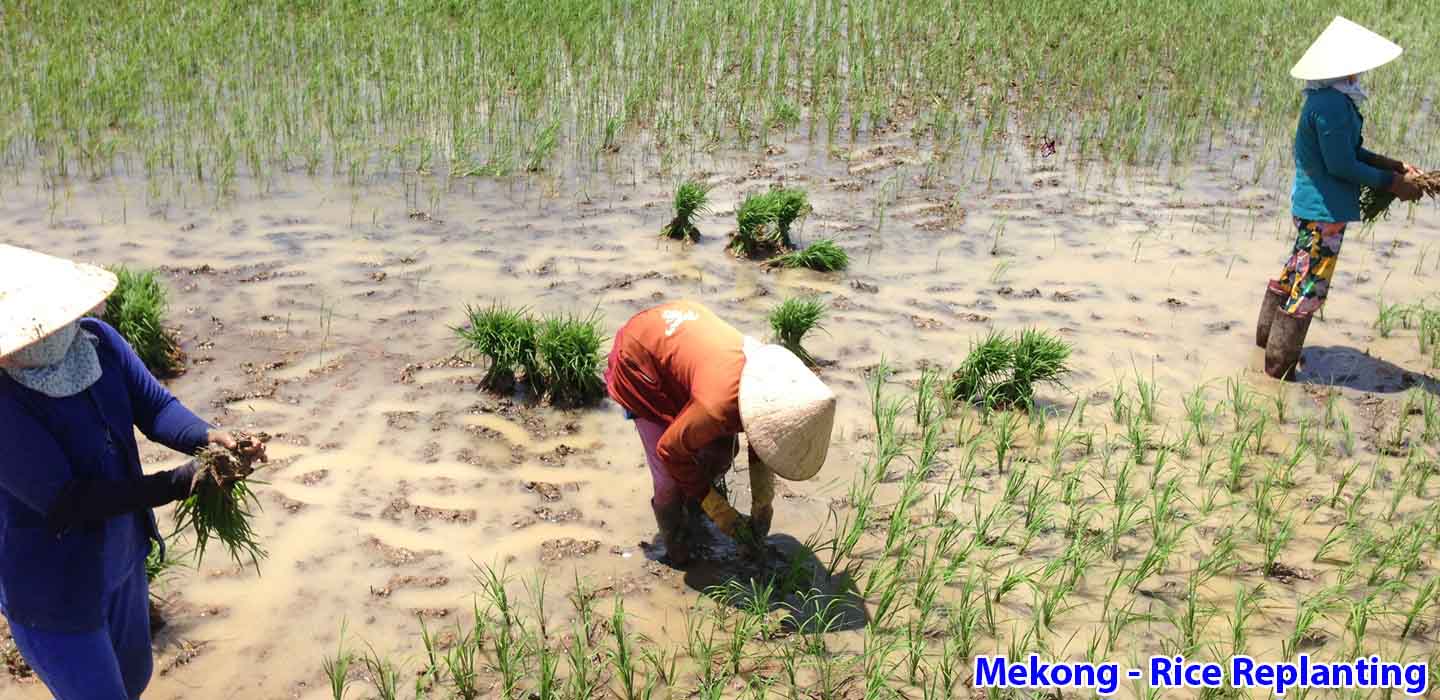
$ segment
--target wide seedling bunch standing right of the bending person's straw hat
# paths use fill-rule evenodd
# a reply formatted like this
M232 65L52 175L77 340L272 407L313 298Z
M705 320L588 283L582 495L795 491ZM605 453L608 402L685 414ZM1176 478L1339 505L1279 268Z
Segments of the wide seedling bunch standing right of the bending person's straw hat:
M985 408L1031 408L1035 385L1060 383L1070 367L1071 346L1050 333L1025 330L1007 337L991 331L971 347L950 376L950 396Z

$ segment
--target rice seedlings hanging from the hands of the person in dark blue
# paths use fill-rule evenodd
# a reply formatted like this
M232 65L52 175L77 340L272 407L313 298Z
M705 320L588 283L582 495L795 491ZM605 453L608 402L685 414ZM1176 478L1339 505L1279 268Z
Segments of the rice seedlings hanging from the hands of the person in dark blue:
M190 495L176 504L176 531L194 530L196 562L204 559L210 539L216 539L229 552L235 563L249 557L255 570L265 559L255 530L251 527L251 507L259 507L259 500L251 491L246 478L255 472L255 457L249 454L255 445L269 439L268 435L236 434L239 449L220 445L206 445L196 454L194 481Z

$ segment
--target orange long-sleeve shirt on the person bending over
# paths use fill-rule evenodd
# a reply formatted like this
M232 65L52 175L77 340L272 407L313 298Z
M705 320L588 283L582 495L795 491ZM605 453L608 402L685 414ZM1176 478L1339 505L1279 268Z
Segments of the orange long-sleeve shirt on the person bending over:
M655 451L688 497L710 488L696 452L740 432L742 369L744 336L694 301L641 311L615 334L605 372L611 398L670 425Z

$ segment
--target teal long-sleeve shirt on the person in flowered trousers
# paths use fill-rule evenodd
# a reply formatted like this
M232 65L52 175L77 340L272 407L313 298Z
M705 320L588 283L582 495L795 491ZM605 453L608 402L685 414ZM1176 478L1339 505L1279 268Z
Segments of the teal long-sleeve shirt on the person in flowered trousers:
M1365 118L1344 92L1306 92L1295 128L1295 190L1290 213L1312 222L1358 222L1359 189L1388 189L1394 173L1365 163Z

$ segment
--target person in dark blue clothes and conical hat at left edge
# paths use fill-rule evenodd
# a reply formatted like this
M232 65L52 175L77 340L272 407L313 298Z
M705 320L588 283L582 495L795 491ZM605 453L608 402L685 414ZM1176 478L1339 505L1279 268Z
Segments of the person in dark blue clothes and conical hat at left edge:
M194 467L145 475L135 428L184 454L236 447L115 328L81 318L114 288L104 269L0 245L0 611L58 700L150 683L151 508L189 495Z

